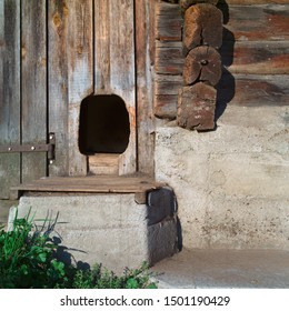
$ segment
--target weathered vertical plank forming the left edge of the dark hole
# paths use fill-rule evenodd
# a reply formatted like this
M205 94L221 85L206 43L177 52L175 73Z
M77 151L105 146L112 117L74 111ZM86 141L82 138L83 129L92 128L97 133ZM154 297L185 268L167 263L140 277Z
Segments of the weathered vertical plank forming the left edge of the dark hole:
M93 93L92 0L67 3L69 175L86 175L87 157L79 151L78 136L81 101Z

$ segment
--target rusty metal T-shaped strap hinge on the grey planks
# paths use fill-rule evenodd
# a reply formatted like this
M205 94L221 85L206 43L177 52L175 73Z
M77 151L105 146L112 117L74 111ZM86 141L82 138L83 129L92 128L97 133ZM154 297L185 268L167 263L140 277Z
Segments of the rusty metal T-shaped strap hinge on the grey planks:
M48 160L56 159L56 134L49 133L48 143L0 146L0 153L47 152Z

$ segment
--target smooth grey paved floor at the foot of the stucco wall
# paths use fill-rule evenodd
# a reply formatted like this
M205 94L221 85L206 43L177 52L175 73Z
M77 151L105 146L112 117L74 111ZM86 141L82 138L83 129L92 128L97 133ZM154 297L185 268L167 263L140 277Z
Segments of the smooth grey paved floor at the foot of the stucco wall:
M152 271L165 289L289 289L289 251L182 250Z

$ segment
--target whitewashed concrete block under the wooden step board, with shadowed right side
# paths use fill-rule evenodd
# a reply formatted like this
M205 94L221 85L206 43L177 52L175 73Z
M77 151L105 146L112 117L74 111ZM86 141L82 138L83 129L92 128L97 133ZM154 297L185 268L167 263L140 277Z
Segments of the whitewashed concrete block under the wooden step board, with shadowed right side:
M134 194L48 194L20 198L18 218L31 209L37 224L58 215L52 237L67 262L102 263L114 272L150 264L177 251L176 200L170 189L148 194L138 204ZM10 222L16 209L10 212Z

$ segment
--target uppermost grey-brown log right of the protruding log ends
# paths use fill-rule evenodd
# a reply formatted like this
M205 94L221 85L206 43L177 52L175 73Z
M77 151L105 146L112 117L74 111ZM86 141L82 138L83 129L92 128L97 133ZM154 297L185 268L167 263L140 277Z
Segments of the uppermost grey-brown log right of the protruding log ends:
M223 40L289 40L289 3L229 6Z

